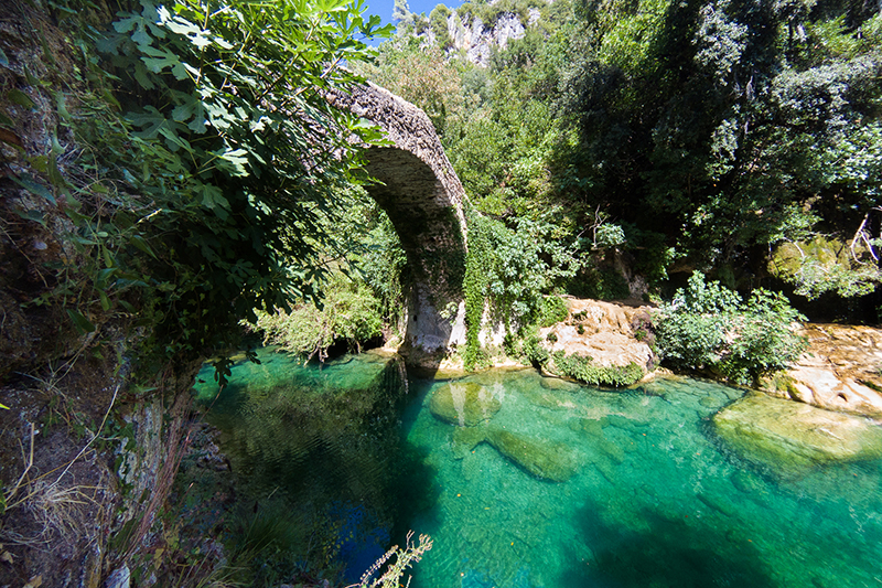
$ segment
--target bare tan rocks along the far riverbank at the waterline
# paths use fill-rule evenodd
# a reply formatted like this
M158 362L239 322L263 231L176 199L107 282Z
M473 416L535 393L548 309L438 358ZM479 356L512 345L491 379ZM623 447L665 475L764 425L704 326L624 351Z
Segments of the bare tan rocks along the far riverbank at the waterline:
M550 355L591 357L603 367L638 365L644 381L658 372L653 329L656 309L636 301L606 302L566 297L568 317L539 330L539 344ZM882 329L863 325L804 323L797 332L808 348L788 370L761 379L755 387L771 396L805 403L818 408L882 419ZM395 353L396 348L385 348ZM524 360L491 353L493 370L519 368ZM542 364L547 376L567 376L556 370L553 360ZM431 367L435 378L466 374L462 360L452 354ZM663 373L667 371L663 370ZM698 374L724 379L721 374Z

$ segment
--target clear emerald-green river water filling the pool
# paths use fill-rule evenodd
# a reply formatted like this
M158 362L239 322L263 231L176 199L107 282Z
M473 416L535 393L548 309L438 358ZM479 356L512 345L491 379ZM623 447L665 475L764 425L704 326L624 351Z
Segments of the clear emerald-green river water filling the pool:
M252 383L259 374L273 382L278 374L288 382L299 377L273 361L276 368L243 366L234 376ZM357 381L354 373L376 374L377 363L308 370L312 384L300 394L345 398L345 391L329 392L333 384L316 383L334 381L335 370L342 381ZM346 559L351 577L384 541L400 543L412 528L434 539L413 571L416 588L882 587L882 462L777 480L760 464L739 461L713 435L709 418L742 391L684 379L602 392L531 370L466 378L502 402L485 426L568 448L576 473L556 483L537 479L486 442L463 452L453 441L455 427L429 411L431 392L445 383L411 377L405 394L402 382L386 370L383 385L396 392L356 386L361 396L373 389L383 398L362 398L367 408L354 413L378 419L376 427L341 425L341 437L309 459L295 450L279 458L266 448L290 448L288 440L273 446L261 437L250 453L232 442L249 398L269 403L281 394L278 387L249 392L240 385L218 410L226 415L218 423L228 419L224 449L238 447L234 470L246 469L265 490L294 489L292 500L308 500L312 509L316 501L333 505L325 513L336 513L332 523L344 533L332 552ZM304 392L311 386L313 392ZM368 417L370 406L380 414ZM329 428L326 418L321 426ZM266 428L290 439L308 427L294 419ZM260 464L262 452L273 453L271 467ZM347 453L351 464L343 459ZM321 492L304 491L304 479L326 483ZM341 548L343 535L357 545Z

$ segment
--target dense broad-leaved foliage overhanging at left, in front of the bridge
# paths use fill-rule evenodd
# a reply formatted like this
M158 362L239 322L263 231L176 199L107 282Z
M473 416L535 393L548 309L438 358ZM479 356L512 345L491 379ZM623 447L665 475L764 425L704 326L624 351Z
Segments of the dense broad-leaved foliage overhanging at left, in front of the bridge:
M32 158L17 181L72 223L86 261L62 268L37 303L65 306L84 332L137 316L146 356L191 361L234 341L254 309L315 297L338 194L359 181L357 158L338 156L355 156L352 135L379 140L324 99L358 79L342 63L369 55L363 39L379 22L362 11L342 0L142 0L115 17L60 7L84 63L52 94L78 150L64 163L61 147Z

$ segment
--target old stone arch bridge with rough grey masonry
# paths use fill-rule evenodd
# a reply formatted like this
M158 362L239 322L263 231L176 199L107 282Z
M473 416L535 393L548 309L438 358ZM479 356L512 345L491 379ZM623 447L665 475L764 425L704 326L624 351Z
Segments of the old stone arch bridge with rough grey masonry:
M370 83L330 101L376 122L392 142L367 150L367 171L381 183L366 189L398 233L413 280L402 351L427 363L465 342L465 191L418 107Z

